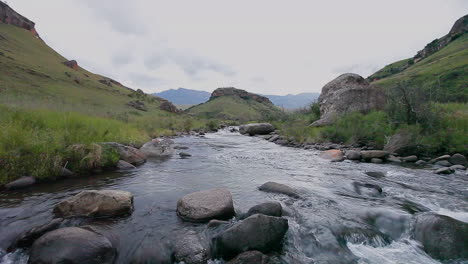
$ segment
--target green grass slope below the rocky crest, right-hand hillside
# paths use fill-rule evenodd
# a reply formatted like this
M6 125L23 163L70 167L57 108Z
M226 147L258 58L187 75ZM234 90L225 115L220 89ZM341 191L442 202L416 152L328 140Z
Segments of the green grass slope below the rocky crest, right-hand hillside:
M404 61L398 63L404 63ZM385 68L376 75L384 70ZM421 87L421 93L430 94L433 101L466 102L468 100L468 34L457 38L445 48L414 63L406 70L376 80L373 84L391 89L402 82L410 86Z

